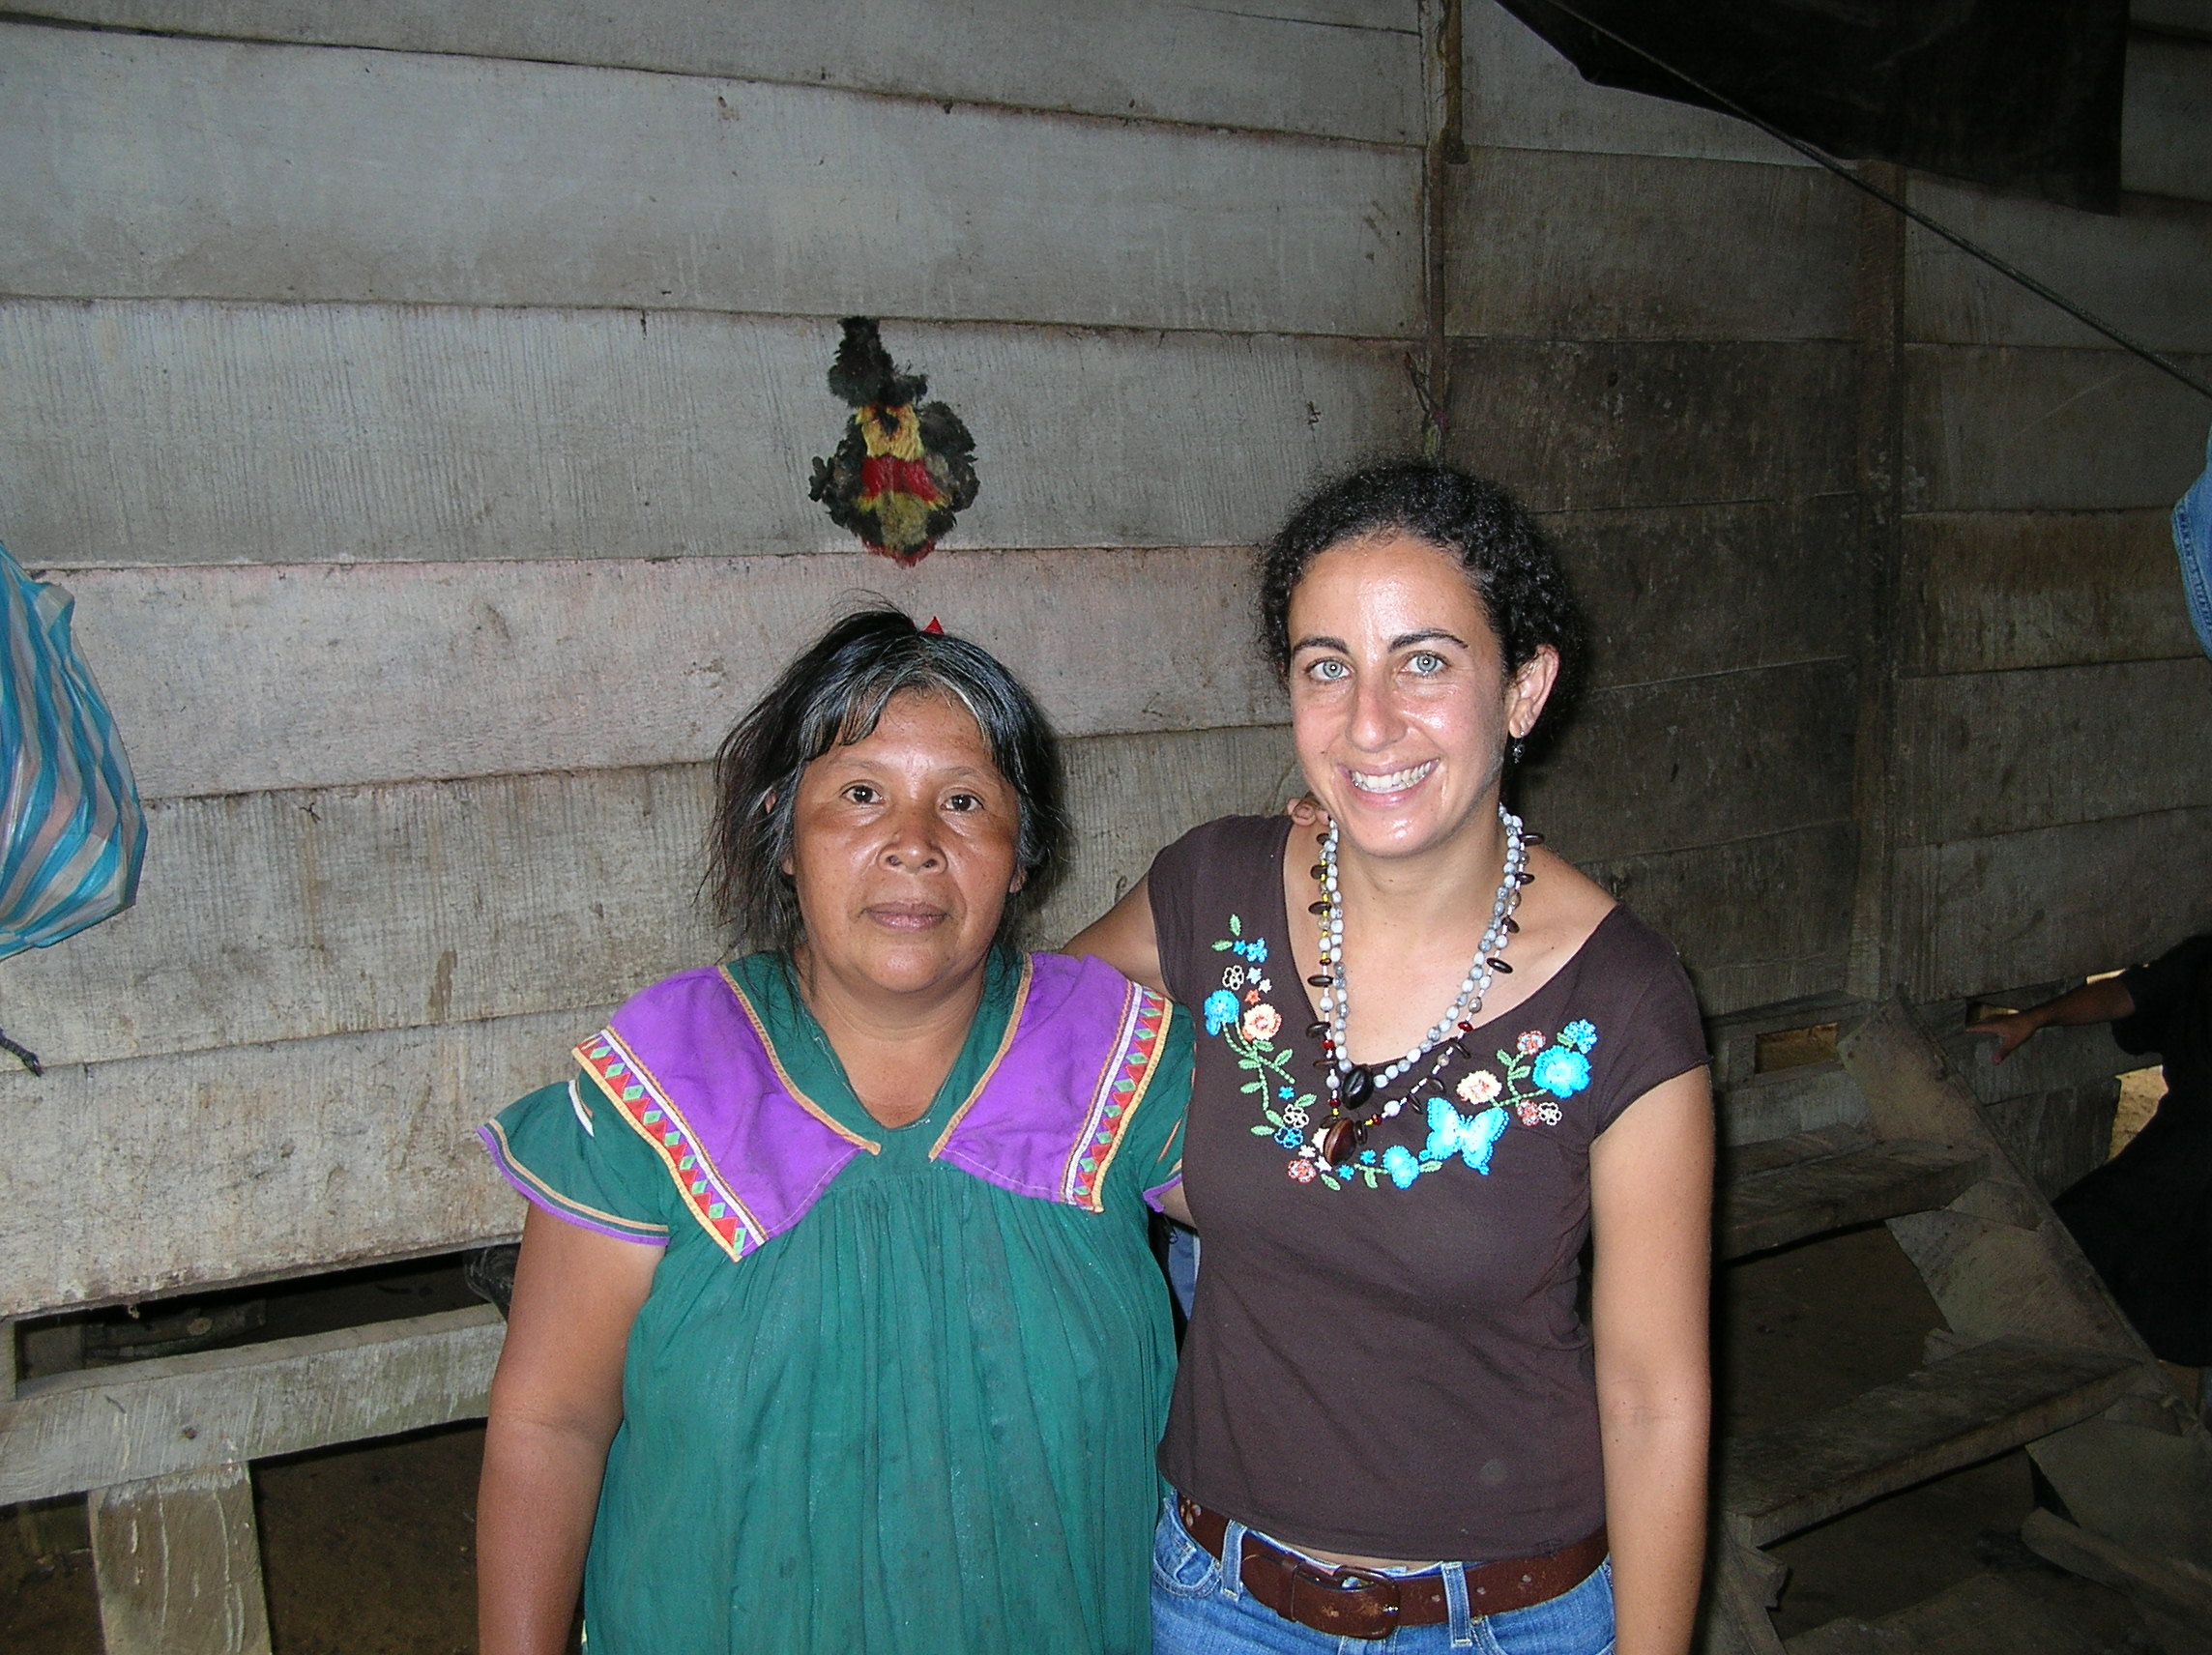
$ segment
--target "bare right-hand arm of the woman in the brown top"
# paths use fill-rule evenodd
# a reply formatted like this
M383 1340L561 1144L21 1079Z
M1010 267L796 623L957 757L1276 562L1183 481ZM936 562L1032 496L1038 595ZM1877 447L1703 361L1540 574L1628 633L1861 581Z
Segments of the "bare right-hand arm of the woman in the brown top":
M1697 1624L1712 1432L1712 1089L1652 1086L1590 1146L1590 1336L1619 1655Z

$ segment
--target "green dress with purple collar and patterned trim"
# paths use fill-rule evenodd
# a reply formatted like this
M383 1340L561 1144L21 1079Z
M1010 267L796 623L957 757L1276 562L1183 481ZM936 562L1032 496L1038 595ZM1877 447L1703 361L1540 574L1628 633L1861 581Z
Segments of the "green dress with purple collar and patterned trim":
M995 956L896 1131L774 956L672 982L728 998L781 1113L717 1139L626 1009L577 1049L573 1100L487 1128L549 1212L666 1239L586 1564L593 1655L1150 1646L1175 1347L1146 1204L1181 1177L1192 1035L1115 978L1126 1016L1082 1055L1073 1011L1040 1007L1097 971Z

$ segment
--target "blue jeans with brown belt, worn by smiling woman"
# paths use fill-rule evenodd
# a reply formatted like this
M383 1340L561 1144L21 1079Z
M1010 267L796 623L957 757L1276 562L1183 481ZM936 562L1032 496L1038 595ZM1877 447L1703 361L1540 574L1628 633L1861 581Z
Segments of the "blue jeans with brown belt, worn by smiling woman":
M1389 1637L1336 1637L1283 1620L1245 1593L1241 1522L1232 1522L1217 1560L1183 1531L1170 1496L1152 1538L1152 1655L1613 1655L1613 1560L1557 1597L1504 1615L1467 1611L1464 1564L1447 1562L1444 1600L1451 1620L1440 1626L1400 1626Z

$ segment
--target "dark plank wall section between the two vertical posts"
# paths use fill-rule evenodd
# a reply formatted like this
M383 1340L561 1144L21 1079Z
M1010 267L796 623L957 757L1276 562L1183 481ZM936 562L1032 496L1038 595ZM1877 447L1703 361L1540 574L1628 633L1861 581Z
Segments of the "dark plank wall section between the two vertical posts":
M1449 449L1557 538L1590 677L1522 799L1708 1013L1834 991L1856 704L1854 192L1464 22Z

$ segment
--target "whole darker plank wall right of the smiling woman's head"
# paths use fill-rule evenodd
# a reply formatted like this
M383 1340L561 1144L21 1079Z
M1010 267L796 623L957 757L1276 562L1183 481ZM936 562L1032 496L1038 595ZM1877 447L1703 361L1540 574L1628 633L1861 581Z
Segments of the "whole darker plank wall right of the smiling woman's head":
M1909 188L2205 372L2212 13L2143 11L2119 215ZM1449 449L1544 513L1595 631L1522 783L1555 843L1708 1013L1960 1000L2212 920L2166 533L2212 407L1739 122L1491 4L1464 38Z

